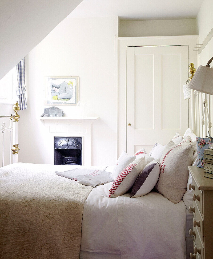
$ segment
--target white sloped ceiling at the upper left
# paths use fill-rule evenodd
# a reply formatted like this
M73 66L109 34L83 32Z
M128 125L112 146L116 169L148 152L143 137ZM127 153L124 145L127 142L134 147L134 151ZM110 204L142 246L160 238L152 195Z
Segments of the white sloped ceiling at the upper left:
M82 0L1 0L0 80Z

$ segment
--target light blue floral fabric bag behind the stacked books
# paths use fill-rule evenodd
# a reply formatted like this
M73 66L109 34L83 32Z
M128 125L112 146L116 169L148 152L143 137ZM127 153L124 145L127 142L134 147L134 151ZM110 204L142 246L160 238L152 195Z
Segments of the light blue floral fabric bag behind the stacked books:
M209 148L210 145L213 144L213 139L209 138L196 138L197 142L197 156L198 156L198 163L197 167L204 167L204 150Z

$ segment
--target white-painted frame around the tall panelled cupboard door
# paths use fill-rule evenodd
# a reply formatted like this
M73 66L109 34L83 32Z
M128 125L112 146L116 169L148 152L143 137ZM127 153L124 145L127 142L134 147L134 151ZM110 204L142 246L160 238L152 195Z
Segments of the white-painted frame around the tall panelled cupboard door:
M199 43L199 35L156 36L156 37L117 37L117 157L127 148L127 47L133 46L188 46L189 61L198 67L199 55L193 51ZM172 72L171 72L172 75ZM187 101L187 100L186 100ZM190 107L189 99L189 107ZM191 109L189 126L191 127ZM130 154L131 155L131 154Z

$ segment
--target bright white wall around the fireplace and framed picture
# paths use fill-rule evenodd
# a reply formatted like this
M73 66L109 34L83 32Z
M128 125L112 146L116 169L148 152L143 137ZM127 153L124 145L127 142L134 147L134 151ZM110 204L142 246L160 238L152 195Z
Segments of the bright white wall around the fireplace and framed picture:
M20 111L19 162L44 163L52 156L39 119L44 109L44 76L79 76L79 100L88 104L92 164L114 164L117 145L115 37L117 17L66 18L25 58L28 109ZM46 106L47 107L47 106ZM58 106L60 107L60 106ZM74 106L61 106L67 116Z

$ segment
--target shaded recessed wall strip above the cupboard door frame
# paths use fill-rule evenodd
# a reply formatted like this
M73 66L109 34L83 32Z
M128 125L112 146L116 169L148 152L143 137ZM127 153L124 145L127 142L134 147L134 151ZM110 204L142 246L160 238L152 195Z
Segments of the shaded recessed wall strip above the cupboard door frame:
M198 34L195 19L120 21L119 37Z

